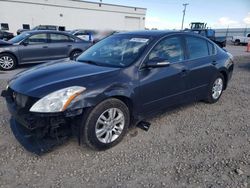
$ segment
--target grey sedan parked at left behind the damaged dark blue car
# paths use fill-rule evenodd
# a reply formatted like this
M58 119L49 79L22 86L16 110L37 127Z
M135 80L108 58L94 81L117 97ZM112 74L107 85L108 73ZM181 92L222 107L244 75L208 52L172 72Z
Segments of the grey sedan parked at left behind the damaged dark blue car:
M18 64L41 63L70 57L75 59L91 45L60 31L28 31L0 44L0 69Z

